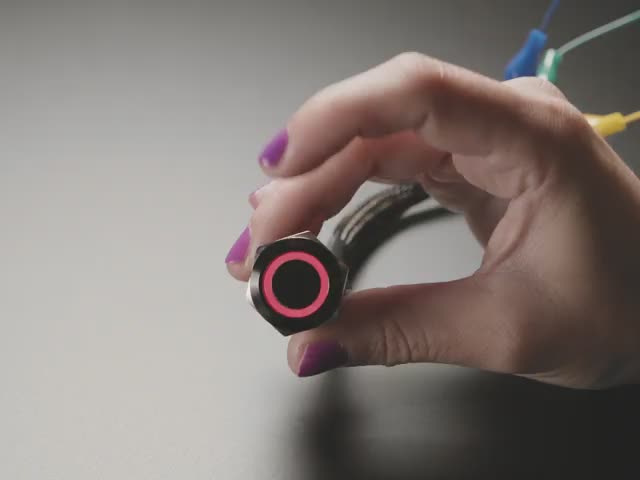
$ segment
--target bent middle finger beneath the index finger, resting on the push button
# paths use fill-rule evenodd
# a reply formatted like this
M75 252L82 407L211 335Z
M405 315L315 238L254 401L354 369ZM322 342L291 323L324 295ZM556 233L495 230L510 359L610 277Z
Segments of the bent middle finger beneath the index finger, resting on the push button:
M369 178L415 181L441 155L415 133L400 132L381 139L354 140L320 168L275 179L250 198L255 210L249 222L249 247L240 261L228 262L229 272L245 280L258 246L305 230L317 233Z

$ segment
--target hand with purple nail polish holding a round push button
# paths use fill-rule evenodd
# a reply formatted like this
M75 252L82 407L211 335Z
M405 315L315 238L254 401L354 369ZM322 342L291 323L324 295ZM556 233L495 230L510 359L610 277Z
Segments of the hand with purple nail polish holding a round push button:
M371 178L422 182L485 249L468 278L349 295L291 338L298 375L439 362L576 388L640 379L640 181L551 84L402 54L313 96L261 163L274 181L228 257L238 279L257 245L317 232Z

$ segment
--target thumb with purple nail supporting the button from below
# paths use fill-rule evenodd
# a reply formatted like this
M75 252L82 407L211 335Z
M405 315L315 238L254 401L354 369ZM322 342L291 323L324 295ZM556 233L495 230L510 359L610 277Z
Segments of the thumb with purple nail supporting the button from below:
M496 283L476 274L353 293L336 320L291 338L289 366L301 377L341 366L414 362L513 373L521 351L517 303L502 301L504 288Z

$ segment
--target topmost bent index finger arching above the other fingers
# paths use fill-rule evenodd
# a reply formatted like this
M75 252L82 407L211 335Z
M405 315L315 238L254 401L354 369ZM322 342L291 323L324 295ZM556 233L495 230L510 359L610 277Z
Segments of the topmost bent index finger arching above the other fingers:
M291 118L287 134L279 137L279 161L263 157L272 160L266 162L267 173L298 175L354 138L413 130L438 150L481 159L481 175L475 174L472 183L509 198L544 179L547 155L532 153L544 150L552 143L548 137L558 133L549 120L557 127L559 117L570 117L571 112L564 104L462 68L403 54L311 98ZM578 130L579 122L568 123ZM546 143L540 142L542 137Z

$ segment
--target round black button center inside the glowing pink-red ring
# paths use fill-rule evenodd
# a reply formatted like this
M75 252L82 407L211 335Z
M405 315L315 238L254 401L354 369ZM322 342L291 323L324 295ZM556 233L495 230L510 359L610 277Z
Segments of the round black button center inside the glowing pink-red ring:
M283 263L273 275L273 293L285 307L308 307L320 292L320 275L307 262Z

